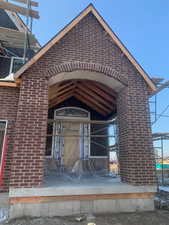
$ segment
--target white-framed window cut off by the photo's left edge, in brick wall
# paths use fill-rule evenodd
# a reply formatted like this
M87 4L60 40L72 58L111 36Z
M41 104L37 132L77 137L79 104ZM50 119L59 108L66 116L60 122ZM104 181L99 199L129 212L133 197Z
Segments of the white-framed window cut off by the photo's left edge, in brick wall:
M2 165L6 128L7 128L7 121L0 120L0 167Z

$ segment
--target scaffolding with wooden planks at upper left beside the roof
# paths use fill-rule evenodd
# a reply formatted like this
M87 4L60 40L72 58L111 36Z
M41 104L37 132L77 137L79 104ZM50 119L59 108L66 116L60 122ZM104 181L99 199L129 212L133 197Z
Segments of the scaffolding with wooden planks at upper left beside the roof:
M22 29L19 30L0 27L0 58L11 60L9 74L16 72L30 59L28 50L35 52L40 48L40 44L32 34L33 18L39 18L38 11L33 10L32 7L38 7L38 2L31 0L15 0L15 2L17 4L13 4L9 0L0 1L0 8L6 10L8 15L22 24ZM22 20L18 14L25 18ZM14 49L19 49L19 53Z

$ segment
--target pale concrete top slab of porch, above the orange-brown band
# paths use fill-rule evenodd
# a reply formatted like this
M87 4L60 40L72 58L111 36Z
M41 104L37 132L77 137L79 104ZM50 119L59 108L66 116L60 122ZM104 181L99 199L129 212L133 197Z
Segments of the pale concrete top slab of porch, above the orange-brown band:
M40 188L10 188L9 197L102 195L122 193L155 193L156 186L133 186L113 179L109 183L79 183Z

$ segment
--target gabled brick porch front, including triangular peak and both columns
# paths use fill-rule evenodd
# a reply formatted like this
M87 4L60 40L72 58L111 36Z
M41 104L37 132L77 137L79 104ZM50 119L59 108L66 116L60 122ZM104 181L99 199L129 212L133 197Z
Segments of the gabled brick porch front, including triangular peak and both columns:
M116 76L126 85L117 101L122 181L155 183L147 84L90 13L22 75L11 186L41 184L48 80L59 72L76 69Z

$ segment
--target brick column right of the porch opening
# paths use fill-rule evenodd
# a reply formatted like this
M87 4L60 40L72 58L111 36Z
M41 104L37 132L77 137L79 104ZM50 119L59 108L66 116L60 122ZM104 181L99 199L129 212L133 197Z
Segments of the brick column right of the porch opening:
M144 81L129 81L129 86L119 93L117 111L122 182L155 184L148 94Z

